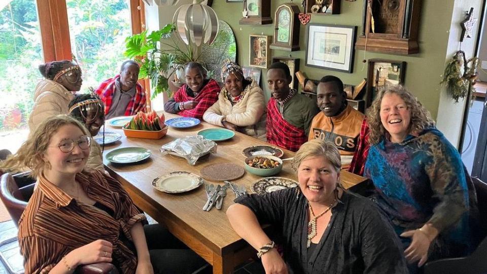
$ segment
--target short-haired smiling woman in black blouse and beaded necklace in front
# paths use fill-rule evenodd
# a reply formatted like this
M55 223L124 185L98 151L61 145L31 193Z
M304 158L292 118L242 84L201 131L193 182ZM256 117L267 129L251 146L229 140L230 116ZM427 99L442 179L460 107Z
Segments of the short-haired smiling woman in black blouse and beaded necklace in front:
M340 154L312 140L293 160L299 187L235 199L233 229L252 247L266 273L408 273L399 239L375 205L340 187ZM271 224L284 258L260 223Z

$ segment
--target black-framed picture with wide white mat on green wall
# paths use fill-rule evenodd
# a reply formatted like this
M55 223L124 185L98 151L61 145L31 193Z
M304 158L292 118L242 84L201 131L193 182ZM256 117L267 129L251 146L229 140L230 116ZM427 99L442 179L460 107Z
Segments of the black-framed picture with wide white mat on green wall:
M357 26L308 24L307 66L352 73Z

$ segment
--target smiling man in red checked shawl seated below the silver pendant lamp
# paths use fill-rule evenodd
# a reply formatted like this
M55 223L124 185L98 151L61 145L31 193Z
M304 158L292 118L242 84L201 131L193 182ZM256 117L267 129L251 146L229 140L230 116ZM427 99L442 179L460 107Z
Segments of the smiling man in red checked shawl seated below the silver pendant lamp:
M204 72L200 63L188 63L185 69L186 85L164 104L164 111L183 117L203 119L204 112L215 104L220 92L217 81L205 79Z

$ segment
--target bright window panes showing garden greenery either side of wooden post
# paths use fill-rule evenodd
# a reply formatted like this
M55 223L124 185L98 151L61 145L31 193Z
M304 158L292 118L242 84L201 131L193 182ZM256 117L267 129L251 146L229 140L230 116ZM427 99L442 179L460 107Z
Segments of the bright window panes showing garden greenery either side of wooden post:
M129 2L66 0L72 52L83 71L81 92L119 73L131 35ZM36 3L44 0L0 1L0 149L15 151L26 139L34 90L42 80Z

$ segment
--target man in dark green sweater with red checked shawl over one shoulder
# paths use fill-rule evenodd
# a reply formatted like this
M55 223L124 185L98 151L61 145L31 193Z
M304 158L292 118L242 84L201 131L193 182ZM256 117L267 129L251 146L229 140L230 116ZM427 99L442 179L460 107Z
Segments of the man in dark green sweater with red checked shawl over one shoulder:
M272 97L267 103L267 142L297 151L308 140L309 125L320 111L316 101L290 89L289 67L273 63L267 71Z

